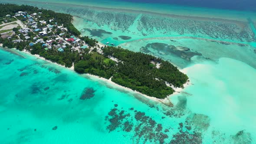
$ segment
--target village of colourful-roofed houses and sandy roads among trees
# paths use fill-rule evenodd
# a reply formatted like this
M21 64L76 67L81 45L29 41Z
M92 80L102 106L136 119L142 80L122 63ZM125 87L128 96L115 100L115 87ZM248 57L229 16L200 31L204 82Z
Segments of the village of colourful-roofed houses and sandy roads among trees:
M81 40L80 36L69 33L62 23L57 23L54 19L42 20L41 14L19 11L14 16L6 15L5 23L0 25L0 28L4 29L3 33L0 29L2 38L7 38L13 43L29 42L29 46L40 43L45 50L56 49L64 52L64 49L71 49L82 53L83 50L89 49L89 53L97 51L103 54L100 47L104 45L90 46ZM10 18L12 22L7 23Z

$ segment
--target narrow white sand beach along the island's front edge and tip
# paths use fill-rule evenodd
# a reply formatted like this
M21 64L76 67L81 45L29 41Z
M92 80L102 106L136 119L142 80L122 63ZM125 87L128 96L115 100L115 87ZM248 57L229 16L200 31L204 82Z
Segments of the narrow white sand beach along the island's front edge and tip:
M101 43L100 43L100 44L101 44ZM101 45L102 45L102 44L101 44ZM0 46L3 47L2 44L0 44ZM4 48L4 49L5 49L5 48ZM14 48L14 49L15 49L15 48ZM15 49L15 50L17 50L17 49ZM28 54L28 55L30 55L30 56L36 57L37 59L44 60L44 61L49 62L49 63L51 63L51 64L55 64L55 65L61 66L62 68L66 68L66 69L69 69L69 70L75 72L75 70L74 70L74 64L72 65L71 68L67 68L67 67L65 67L64 65L60 65L60 64L58 64L58 63L56 63L56 62L49 61L49 60L47 60L47 59L45 59L45 58L43 58L43 57L41 57L41 56L39 56L39 55L32 55L30 52L28 52L28 51L25 50L25 49L24 49L23 51L20 51L20 52L24 52L24 53L26 53L26 54ZM179 69L179 70L180 70L181 72L183 72L183 73L186 72L184 69ZM186 73L185 73L185 74L186 74ZM135 94L139 94L140 96L142 96L142 97L144 97L144 98L147 98L147 99L150 99L150 100L156 101L156 102L161 102L162 104L167 105L167 106L173 106L173 104L172 104L171 101L170 101L170 97L171 97L171 96L173 96L173 95L175 95L175 94L181 92L184 88L187 88L187 86L190 85L190 82L186 82L186 83L184 84L184 88L174 88L174 91L175 91L175 92L174 92L173 94L167 95L167 97L164 98L164 99L159 99L159 98L150 97L150 96L148 96L148 95L142 94L141 92L138 92L138 91L136 91L136 90L132 90L131 88L127 88L127 87L118 85L118 84L116 84L115 82L112 82L112 81L111 81L111 78L110 78L110 79L105 79L105 78L99 77L99 76L97 76L97 75L92 75L92 74L82 74L81 76L84 76L85 78L89 78L89 79L92 79L92 80L95 80L95 81L101 81L101 82L103 82L102 84L104 84L105 86L108 86L108 87L110 86L110 88L115 88L115 89L118 90L118 91L120 91L120 90L125 90L126 92L129 92L129 93L130 93L131 95L133 95L133 96L135 96ZM108 85L108 84L109 84L109 85Z

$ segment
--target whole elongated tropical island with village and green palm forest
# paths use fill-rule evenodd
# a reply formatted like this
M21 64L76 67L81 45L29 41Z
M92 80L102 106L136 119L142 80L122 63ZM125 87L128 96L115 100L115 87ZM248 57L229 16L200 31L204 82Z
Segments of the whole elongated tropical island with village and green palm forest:
M174 88L183 88L187 75L170 62L106 46L80 36L72 15L27 5L0 4L0 43L26 50L51 62L73 67L75 72L110 79L155 98L166 98Z

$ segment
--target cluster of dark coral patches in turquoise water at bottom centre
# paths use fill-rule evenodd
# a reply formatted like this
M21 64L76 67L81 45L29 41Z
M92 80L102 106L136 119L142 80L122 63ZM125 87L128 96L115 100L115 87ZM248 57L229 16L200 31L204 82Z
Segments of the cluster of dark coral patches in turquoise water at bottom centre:
M163 128L162 124L157 123L153 118L146 115L145 112L129 108L129 111L119 110L115 105L105 117L106 127L109 132L125 131L134 132L133 141L159 143L159 144L201 144L202 137L200 132L184 129L184 124L179 123L177 128L180 131L175 132L173 128ZM187 124L185 124L187 126ZM171 141L168 138L173 135Z

